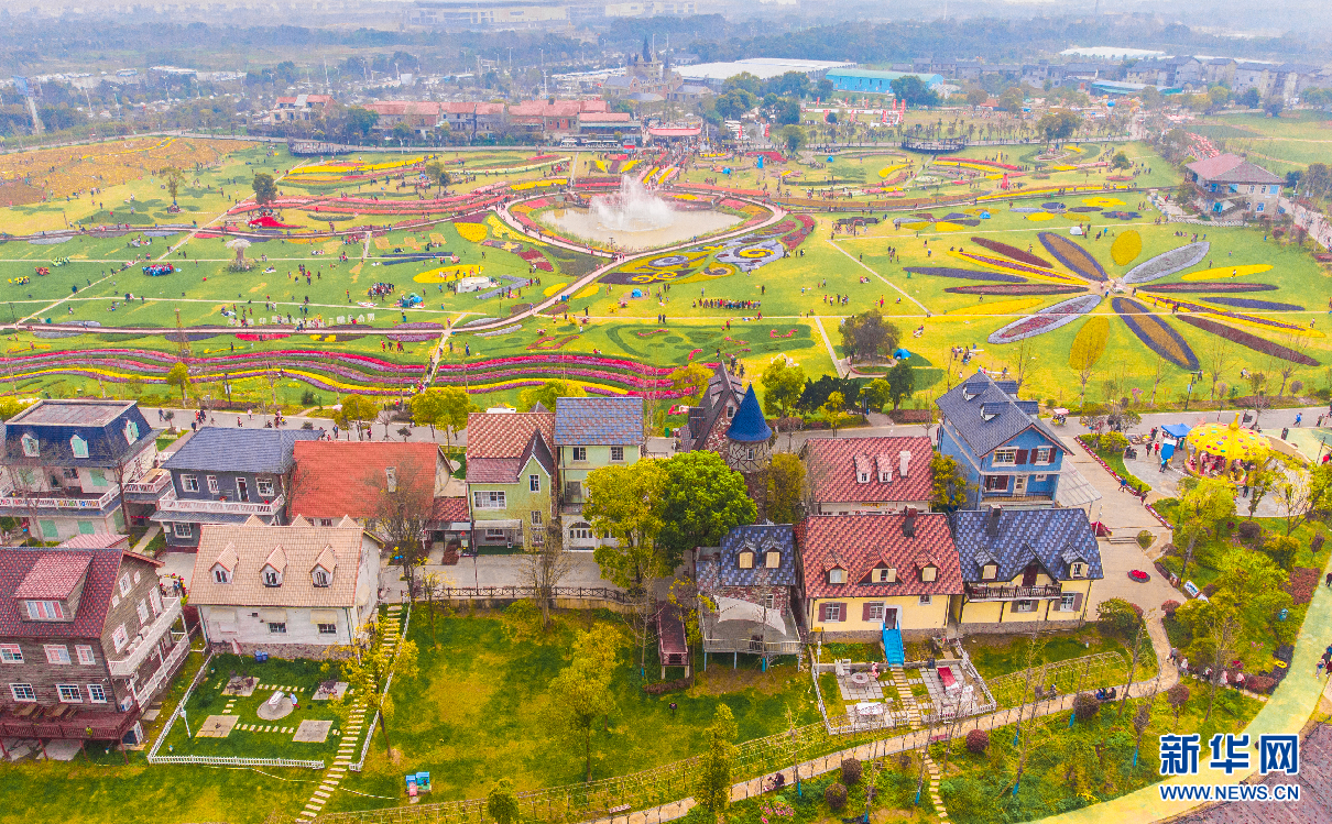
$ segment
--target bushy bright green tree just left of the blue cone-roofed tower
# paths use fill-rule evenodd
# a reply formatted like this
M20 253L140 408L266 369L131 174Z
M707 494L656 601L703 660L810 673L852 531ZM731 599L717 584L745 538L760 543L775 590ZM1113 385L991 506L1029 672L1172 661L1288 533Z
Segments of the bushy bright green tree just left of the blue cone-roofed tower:
M694 547L719 546L733 528L754 523L758 510L745 487L745 477L726 466L717 453L681 453L662 466L666 473L657 543L667 571Z

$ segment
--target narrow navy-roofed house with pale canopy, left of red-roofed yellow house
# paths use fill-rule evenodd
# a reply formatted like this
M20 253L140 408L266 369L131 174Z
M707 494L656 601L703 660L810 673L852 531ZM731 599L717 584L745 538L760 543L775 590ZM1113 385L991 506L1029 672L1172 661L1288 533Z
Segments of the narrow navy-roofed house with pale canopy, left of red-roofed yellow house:
M799 559L787 523L738 526L719 547L698 550L695 579L703 655L799 655Z

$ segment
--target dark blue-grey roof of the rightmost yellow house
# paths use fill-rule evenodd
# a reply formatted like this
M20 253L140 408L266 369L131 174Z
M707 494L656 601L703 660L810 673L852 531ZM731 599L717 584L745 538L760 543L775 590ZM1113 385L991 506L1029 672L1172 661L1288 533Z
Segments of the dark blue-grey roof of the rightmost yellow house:
M998 513L998 522L994 514ZM1068 566L1087 564L1087 578L1103 578L1100 547L1087 513L1071 510L963 510L954 514L952 542L962 579L980 582L980 567L995 563L995 580L1012 580L1035 560L1051 578L1068 579Z

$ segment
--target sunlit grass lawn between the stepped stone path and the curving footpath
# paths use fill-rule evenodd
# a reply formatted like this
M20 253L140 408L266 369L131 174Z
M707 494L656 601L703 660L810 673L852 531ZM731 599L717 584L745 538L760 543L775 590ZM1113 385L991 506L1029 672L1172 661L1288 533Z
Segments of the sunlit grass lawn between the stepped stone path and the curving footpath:
M406 771L429 771L437 800L484 797L498 777L513 779L519 791L581 781L581 747L563 733L559 696L547 686L567 664L574 631L591 622L618 624L609 614L561 612L550 635L513 640L497 614L437 618L438 647L432 648L430 622L424 610L414 611L410 635L421 650L421 672L414 680L394 682L397 710L389 723L389 737L402 757L389 763L382 733L377 735L365 772L352 788L389 796L393 804L402 803ZM594 779L698 753L721 703L734 712L739 740L785 729L787 707L797 724L819 718L809 674L798 672L790 659L766 674L754 660L733 670L730 662L713 659L690 690L646 695L637 650L627 632L625 639L610 688L615 710L606 723L598 721L593 735ZM654 650L647 662L653 675ZM674 712L671 703L678 706ZM329 809L382 804L337 793Z

